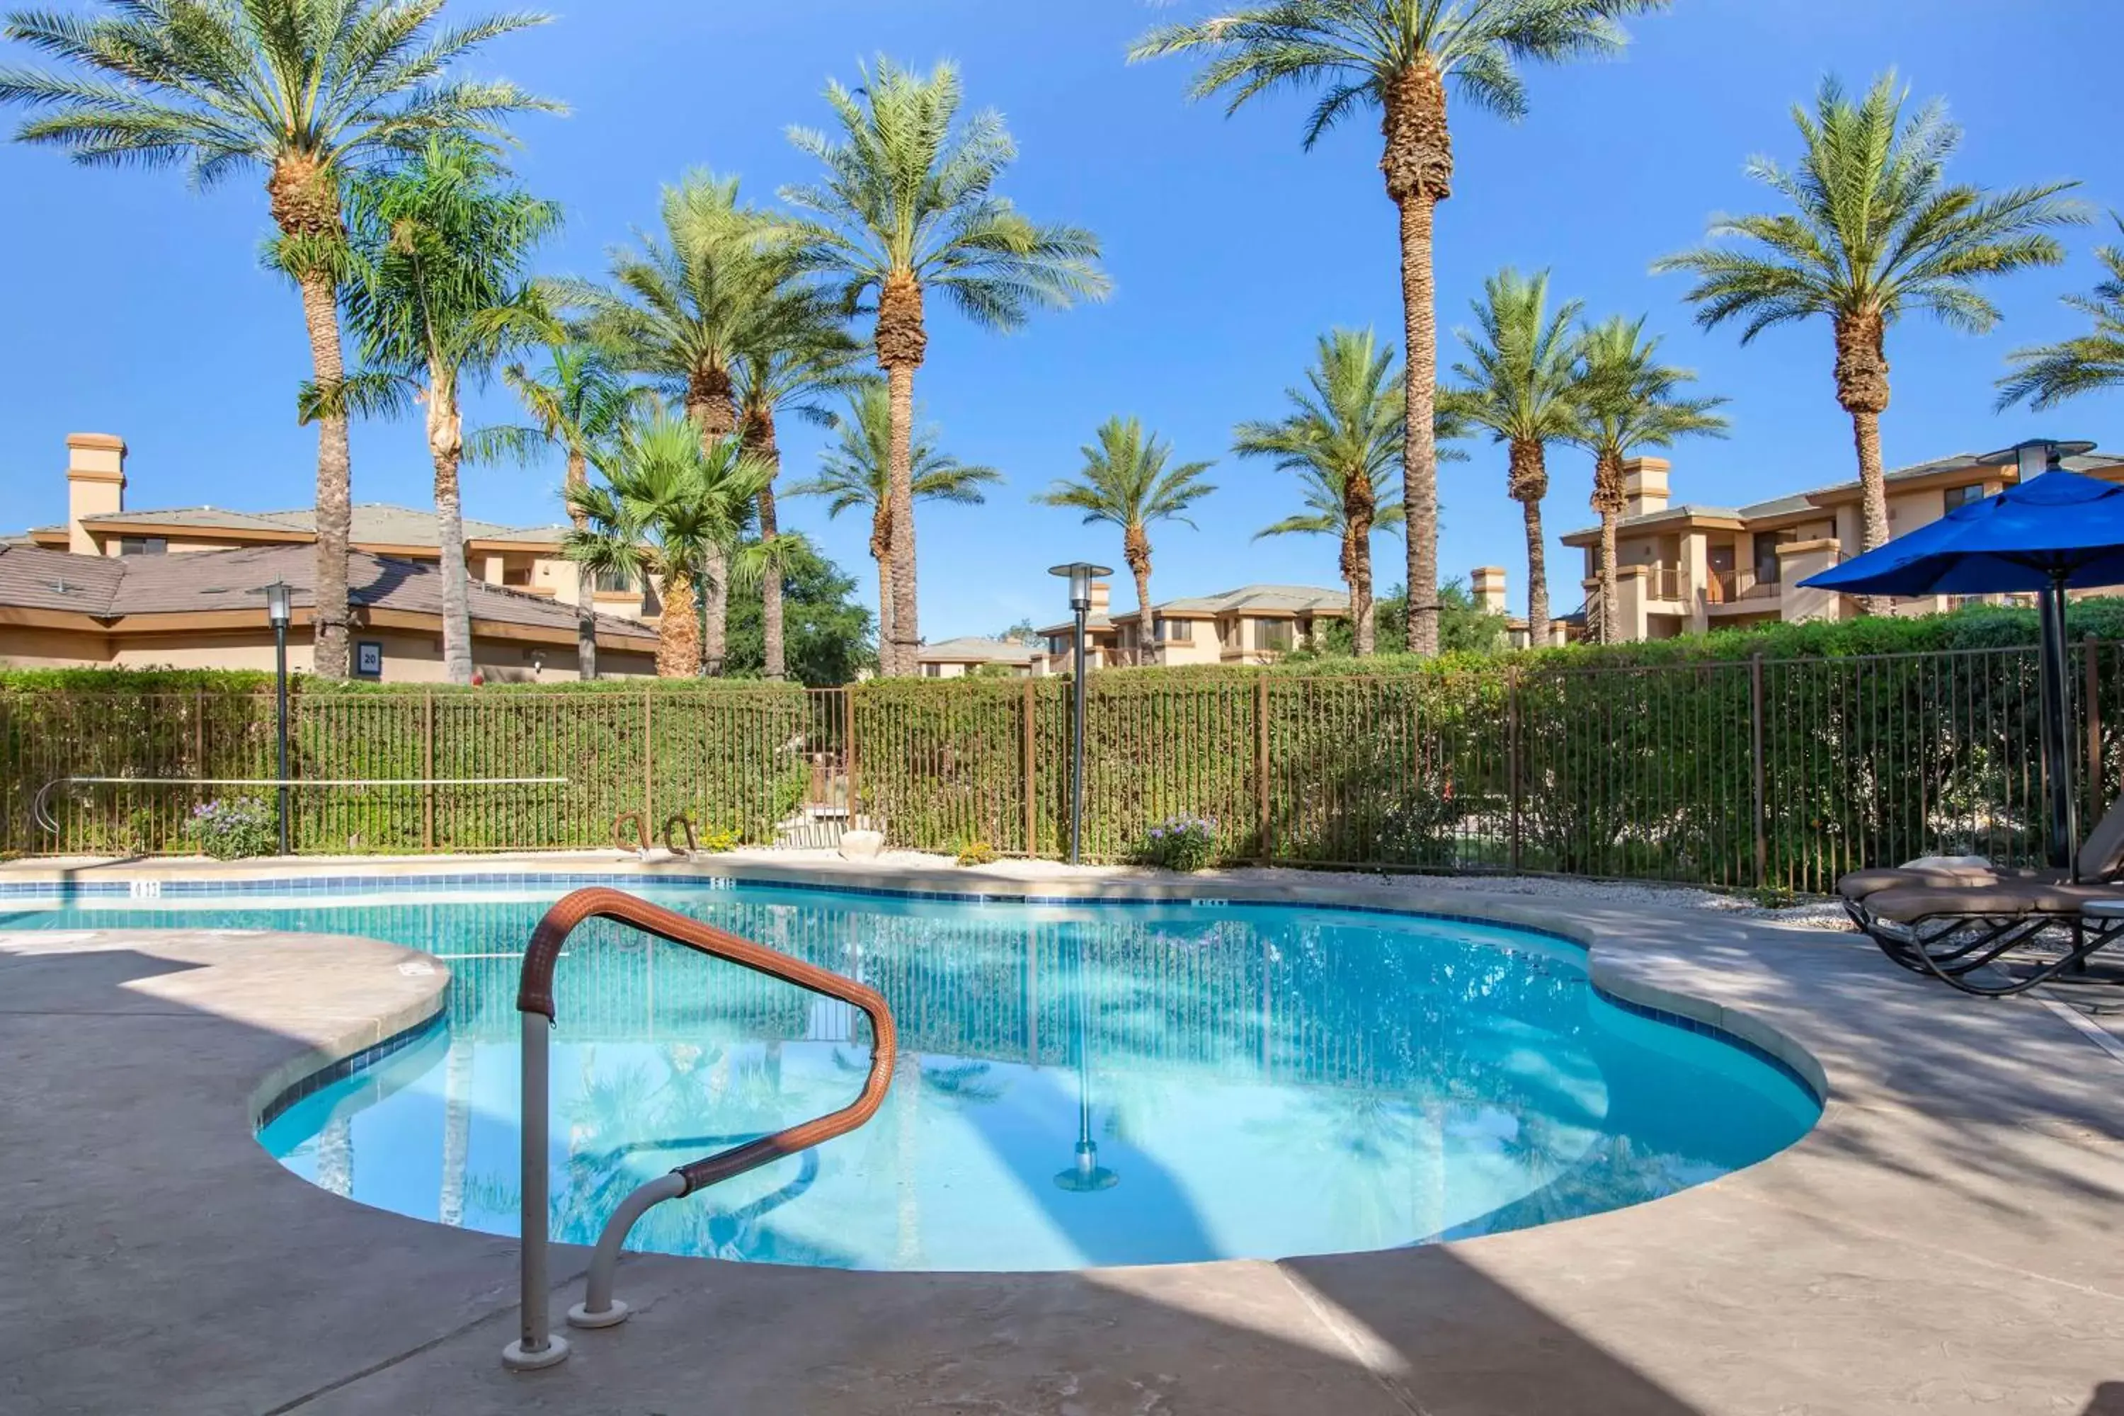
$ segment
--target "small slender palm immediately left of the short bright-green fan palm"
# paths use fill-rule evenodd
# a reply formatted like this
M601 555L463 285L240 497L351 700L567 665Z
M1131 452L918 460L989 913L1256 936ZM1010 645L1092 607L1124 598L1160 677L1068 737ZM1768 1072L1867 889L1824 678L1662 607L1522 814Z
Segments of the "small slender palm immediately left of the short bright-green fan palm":
M548 346L544 374L512 363L501 369L501 380L531 414L533 427L482 429L465 454L516 452L529 461L533 448L559 448L567 461L561 499L576 529L586 529L573 497L590 484L590 450L618 437L646 391L627 382L607 350L573 340ZM576 567L576 671L584 681L597 677L597 573L588 565Z

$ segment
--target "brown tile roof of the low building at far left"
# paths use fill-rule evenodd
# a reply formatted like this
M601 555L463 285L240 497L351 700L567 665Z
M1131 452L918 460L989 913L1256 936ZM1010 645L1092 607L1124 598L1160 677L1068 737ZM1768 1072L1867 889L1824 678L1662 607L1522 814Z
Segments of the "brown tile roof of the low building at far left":
M355 605L442 618L442 569L423 560L348 554L346 580ZM282 580L297 607L314 605L316 554L308 546L246 546L170 556L76 556L64 550L0 546L0 607L64 609L98 620L149 614L255 609L259 590ZM576 631L573 605L472 582L472 618L493 624ZM599 616L599 631L656 643L656 631L635 620Z

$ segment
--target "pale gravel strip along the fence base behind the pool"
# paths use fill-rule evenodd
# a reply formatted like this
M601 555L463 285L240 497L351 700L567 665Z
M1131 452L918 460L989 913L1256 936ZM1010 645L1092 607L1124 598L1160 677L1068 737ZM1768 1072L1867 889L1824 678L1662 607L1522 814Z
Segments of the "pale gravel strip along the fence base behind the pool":
M803 860L839 860L835 851L773 849L737 851L741 858L799 864ZM926 856L922 851L886 851L877 858L884 866L939 868L952 866L949 856ZM1011 881L1051 881L1070 877L1096 879L1158 879L1166 873L1145 866L1068 866L1058 860L998 860L981 866L979 875ZM1289 870L1281 866L1238 866L1232 870L1209 870L1209 879L1228 881L1317 881L1319 870ZM1340 873L1338 873L1340 875ZM1801 900L1788 909L1763 909L1748 896L1729 896L1714 890L1691 890L1686 885L1652 885L1623 881L1574 881L1548 875L1374 875L1366 879L1402 885L1408 890L1468 890L1476 894L1542 896L1553 900L1589 900L1597 904L1655 904L1659 909L1708 909L1763 923L1780 923L1801 930L1850 930L1850 919L1833 900Z

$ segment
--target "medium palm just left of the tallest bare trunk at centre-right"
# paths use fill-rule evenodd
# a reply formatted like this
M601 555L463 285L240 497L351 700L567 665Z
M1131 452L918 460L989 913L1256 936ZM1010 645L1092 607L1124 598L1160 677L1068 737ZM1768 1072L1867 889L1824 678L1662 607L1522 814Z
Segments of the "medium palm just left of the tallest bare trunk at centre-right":
M1285 388L1291 412L1279 422L1243 422L1238 456L1268 459L1302 480L1306 512L1262 529L1266 535L1336 535L1357 654L1372 652L1372 529L1402 522L1393 473L1402 461L1406 391L1391 348L1370 331L1319 338L1304 388Z

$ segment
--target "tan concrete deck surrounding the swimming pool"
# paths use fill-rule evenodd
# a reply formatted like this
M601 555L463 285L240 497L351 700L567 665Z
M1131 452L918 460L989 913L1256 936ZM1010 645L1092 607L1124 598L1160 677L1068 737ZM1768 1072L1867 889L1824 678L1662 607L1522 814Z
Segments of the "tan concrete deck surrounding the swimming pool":
M382 866L518 868L590 866ZM170 875L210 873L68 870ZM1714 1185L1376 1255L1024 1276L635 1257L635 1320L512 1376L514 1240L355 1206L253 1140L280 1087L433 1013L438 966L295 934L0 934L0 1412L2124 1414L2124 1064L2041 1002L1701 911L1340 877L805 875L1559 928L1610 991L1818 1068L1829 1108ZM0 870L25 879L55 877ZM580 1270L556 1253L556 1278Z

